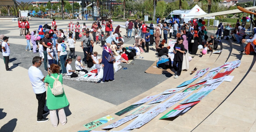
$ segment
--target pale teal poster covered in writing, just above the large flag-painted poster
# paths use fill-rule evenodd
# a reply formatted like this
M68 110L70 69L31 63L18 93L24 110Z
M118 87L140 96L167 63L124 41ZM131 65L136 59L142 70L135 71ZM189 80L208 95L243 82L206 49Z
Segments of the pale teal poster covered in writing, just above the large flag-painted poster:
M208 90L208 91L203 91L200 93L193 93L191 96L186 98L183 102L180 104L185 104L185 103L190 103L190 102L195 102L195 101L200 101L202 100L206 95L208 95L211 91L213 90Z

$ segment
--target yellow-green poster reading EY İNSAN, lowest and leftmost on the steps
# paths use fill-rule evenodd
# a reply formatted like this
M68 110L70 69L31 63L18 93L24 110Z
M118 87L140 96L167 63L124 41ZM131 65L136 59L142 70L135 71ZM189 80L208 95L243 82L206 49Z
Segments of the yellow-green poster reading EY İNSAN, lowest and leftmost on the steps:
M107 115L107 116L104 116L104 117L101 117L97 120L94 120L93 122L90 122L90 123L87 123L85 125L83 125L84 127L86 127L87 129L89 130L92 130L94 128L97 128L111 120L113 120L114 117L110 116L110 115Z

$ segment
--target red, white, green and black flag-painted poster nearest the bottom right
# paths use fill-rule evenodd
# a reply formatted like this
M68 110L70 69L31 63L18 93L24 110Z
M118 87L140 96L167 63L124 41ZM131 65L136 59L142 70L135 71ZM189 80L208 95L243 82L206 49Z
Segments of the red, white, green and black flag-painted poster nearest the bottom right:
M170 117L175 117L179 115L185 114L187 111L189 111L192 107L194 107L196 104L198 104L200 101L189 103L189 104L184 104L184 105L178 105L175 107L173 110L162 116L160 119L164 118L170 118Z

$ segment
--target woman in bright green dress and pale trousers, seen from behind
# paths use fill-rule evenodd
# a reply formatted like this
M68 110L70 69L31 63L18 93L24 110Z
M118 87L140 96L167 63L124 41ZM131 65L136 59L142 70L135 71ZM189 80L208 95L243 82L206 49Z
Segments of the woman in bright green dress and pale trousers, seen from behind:
M52 73L51 75L50 75L50 71ZM66 119L64 107L69 105L64 91L62 94L55 96L55 95L53 95L53 93L50 89L50 87L51 88L53 87L53 83L55 81L53 78L51 78L51 76L53 76L54 78L57 78L59 75L59 81L62 84L63 79L62 79L62 75L59 74L59 71L60 71L60 67L58 65L51 64L50 69L48 68L48 75L44 79L44 82L48 83L46 106L50 110L50 118L51 118L52 125L54 127L58 126L58 117L57 117L57 113L56 113L57 110L58 110L60 123L62 125L66 124L67 119Z

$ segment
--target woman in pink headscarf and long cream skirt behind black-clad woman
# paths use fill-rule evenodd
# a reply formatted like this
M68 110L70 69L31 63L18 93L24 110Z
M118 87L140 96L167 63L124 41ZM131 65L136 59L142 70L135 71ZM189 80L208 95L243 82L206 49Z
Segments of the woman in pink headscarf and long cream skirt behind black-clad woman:
M187 50L187 53L183 53L183 61L182 61L182 69L181 69L181 70L185 70L185 69L189 69L189 53L188 53L189 43L186 35L182 35L181 37L183 38L184 48Z

